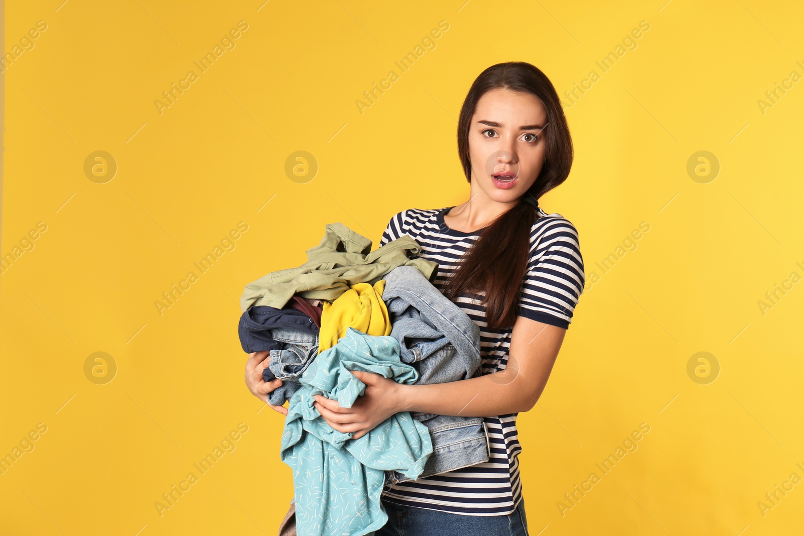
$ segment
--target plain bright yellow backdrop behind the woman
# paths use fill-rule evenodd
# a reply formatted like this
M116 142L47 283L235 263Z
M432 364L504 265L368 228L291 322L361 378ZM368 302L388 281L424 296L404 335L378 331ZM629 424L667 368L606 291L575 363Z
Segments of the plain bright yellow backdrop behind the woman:
M765 113L757 100L804 75L802 16L757 0L7 2L4 51L39 20L47 31L6 71L2 255L47 231L0 279L0 455L47 432L0 475L0 532L276 534L292 479L283 419L243 381L244 285L301 264L325 223L376 247L397 211L465 201L461 102L483 69L523 60L561 96L600 76L566 109L572 174L541 199L600 280L519 415L531 534L800 534L804 483L765 515L757 502L804 478L804 284L765 314L757 302L804 276L804 82ZM154 100L240 20L236 47L160 115ZM105 184L84 174L96 150L117 162ZM285 174L299 150L318 162L310 182ZM705 184L687 174L699 150L720 162ZM236 248L160 316L154 301L241 221ZM117 364L105 385L84 375L99 351ZM687 374L699 351L720 364L706 385ZM638 450L562 516L564 493L643 422ZM160 516L154 502L238 423L236 450Z

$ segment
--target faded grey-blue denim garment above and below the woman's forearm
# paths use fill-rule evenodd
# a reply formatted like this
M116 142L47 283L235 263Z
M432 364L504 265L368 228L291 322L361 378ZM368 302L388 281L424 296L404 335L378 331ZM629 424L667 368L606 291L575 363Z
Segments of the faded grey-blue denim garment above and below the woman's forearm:
M478 325L422 273L411 266L384 276L383 301L391 318L391 337L400 343L400 359L419 373L417 384L448 383L480 375ZM419 477L430 477L489 460L488 432L482 417L412 412L433 440ZM388 471L387 483L412 480Z

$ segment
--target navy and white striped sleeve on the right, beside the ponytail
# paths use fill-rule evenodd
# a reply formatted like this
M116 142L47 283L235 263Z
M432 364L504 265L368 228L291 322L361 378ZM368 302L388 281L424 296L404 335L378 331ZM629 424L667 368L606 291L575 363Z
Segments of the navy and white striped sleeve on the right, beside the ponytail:
M578 231L564 218L544 220L531 230L518 316L568 329L585 284Z

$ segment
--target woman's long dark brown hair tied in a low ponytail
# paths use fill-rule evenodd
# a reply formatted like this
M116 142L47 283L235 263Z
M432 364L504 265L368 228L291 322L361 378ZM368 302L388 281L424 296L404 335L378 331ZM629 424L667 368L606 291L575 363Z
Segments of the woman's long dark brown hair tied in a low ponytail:
M485 293L482 303L486 305L486 324L489 329L503 329L513 327L516 321L530 258L536 207L525 198L530 194L538 200L567 180L572 166L572 138L556 88L544 72L521 61L492 65L474 80L458 119L457 150L467 182L471 182L472 174L469 156L472 117L480 97L493 89L529 93L542 101L547 110L544 165L533 186L519 198L519 203L494 219L461 257L443 292L453 301L461 293Z

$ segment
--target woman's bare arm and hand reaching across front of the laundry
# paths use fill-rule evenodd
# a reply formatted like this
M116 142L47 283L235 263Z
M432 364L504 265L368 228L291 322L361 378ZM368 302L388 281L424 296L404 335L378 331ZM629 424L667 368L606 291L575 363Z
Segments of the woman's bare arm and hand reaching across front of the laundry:
M450 383L404 385L380 374L354 370L366 392L352 407L321 395L315 406L338 432L364 436L398 411L486 417L528 411L544 391L567 330L518 317L505 370Z

